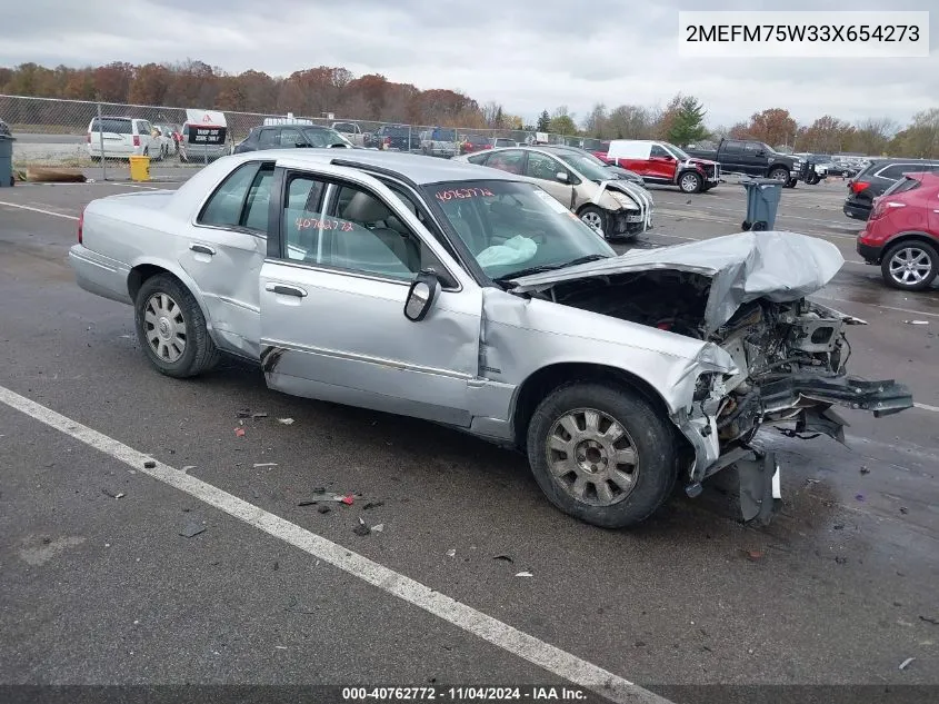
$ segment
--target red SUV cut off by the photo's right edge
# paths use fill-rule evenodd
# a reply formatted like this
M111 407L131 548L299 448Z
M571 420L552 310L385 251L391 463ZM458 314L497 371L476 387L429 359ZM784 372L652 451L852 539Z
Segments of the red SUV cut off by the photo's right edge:
M907 173L875 198L858 254L888 286L929 288L939 272L939 173Z

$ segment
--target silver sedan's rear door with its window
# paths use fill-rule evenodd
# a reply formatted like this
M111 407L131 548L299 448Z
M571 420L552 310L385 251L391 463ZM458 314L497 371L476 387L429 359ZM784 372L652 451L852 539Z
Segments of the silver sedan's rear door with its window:
M212 328L229 351L260 354L258 277L267 254L274 162L252 160L232 170L194 214L177 252L198 284Z

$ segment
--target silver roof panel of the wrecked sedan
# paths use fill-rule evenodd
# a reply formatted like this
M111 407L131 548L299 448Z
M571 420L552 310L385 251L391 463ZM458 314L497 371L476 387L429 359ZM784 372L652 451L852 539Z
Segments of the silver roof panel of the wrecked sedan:
M264 149L236 156L243 157L244 161L249 161L257 159L259 155L270 155L271 159L277 160L289 159L291 163L306 162L311 167L330 163L337 159L346 162L357 162L364 167L378 167L397 171L419 185L453 180L522 180L517 175L468 161L454 161L452 159L441 159L439 157L428 157L402 151L378 151L372 149L342 149L341 151L337 149Z

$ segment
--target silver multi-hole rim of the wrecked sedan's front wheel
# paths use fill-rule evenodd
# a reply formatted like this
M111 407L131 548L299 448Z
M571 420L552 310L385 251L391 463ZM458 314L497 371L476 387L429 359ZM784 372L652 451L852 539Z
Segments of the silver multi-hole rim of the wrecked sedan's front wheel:
M548 467L576 500L612 506L623 500L639 477L639 454L616 418L593 408L562 415L548 433Z

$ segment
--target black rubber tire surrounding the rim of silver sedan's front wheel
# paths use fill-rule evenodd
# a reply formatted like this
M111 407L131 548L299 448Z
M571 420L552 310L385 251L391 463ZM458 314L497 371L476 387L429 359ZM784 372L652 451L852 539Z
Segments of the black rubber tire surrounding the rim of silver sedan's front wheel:
M616 503L593 505L576 498L563 488L567 483L563 475L557 477L549 466L548 442L555 424L578 409L596 409L613 418L626 430L625 442L635 448L635 484ZM677 443L668 419L641 395L610 384L572 381L555 389L531 417L527 447L535 480L548 500L601 528L625 528L641 523L665 503L678 477ZM596 486L593 494L593 500L599 500Z

